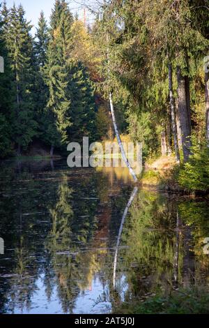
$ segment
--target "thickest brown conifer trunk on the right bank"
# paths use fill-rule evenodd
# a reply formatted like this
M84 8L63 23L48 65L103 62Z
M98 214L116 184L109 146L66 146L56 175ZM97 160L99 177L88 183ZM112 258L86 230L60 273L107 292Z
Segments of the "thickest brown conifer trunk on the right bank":
M191 114L188 100L188 86L185 77L183 77L180 67L177 68L178 81L178 114L181 128L181 141L183 145L184 161L187 162L191 154Z

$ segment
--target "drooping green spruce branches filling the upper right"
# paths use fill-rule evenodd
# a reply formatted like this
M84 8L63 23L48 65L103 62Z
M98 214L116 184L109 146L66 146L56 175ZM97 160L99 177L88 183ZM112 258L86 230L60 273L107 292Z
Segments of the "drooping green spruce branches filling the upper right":
M155 156L160 152L162 127L162 132L167 134L167 148L174 145L174 129L171 136L169 63L173 68L175 105L178 107L176 69L179 66L183 77L190 78L186 106L190 111L190 98L192 130L201 134L202 140L205 138L203 131L206 120L200 115L200 110L205 114L202 64L208 51L208 10L204 6L206 1L201 1L202 6L198 3L172 0L111 1L104 7L103 20L98 23L100 44L105 33L109 33L106 55L104 48L101 51L104 56L102 77L106 77L104 94L112 88L115 98L121 94L123 100L127 101L129 131L132 140L143 140L145 155ZM147 117L149 122L146 124ZM180 120L183 121L182 117ZM181 128L186 130L183 124ZM186 135L185 131L182 131L182 135L178 132L179 140L183 135Z

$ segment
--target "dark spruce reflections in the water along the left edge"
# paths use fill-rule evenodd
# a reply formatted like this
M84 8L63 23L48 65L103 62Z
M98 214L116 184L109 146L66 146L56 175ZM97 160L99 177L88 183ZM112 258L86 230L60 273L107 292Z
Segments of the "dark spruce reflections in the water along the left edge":
M54 185L47 186L46 191L45 184L35 179L32 170L29 172L24 166L19 169L13 163L4 167L0 176L3 181L0 194L5 195L0 207L0 230L6 243L5 256L9 257L0 262L3 267L0 312L6 313L15 308L20 311L31 308L31 297L38 289L36 280L44 263L42 241L49 228L47 218L40 214L46 215L46 204L51 202L48 194L53 200L56 195Z

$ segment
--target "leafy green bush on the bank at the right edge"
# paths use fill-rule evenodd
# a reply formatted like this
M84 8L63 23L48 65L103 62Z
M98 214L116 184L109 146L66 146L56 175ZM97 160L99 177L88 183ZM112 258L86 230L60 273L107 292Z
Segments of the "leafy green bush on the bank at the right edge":
M181 168L178 181L188 191L209 191L209 148L208 145L192 148L193 155Z

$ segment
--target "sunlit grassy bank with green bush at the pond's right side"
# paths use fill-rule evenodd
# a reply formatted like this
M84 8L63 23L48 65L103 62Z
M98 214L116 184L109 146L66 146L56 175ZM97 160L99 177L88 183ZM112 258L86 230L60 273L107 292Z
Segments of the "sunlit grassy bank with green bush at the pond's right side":
M143 186L192 195L209 193L209 148L194 147L187 163L176 164L173 156L146 163L141 174Z

